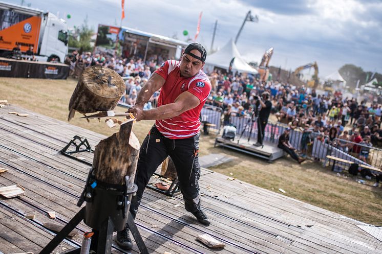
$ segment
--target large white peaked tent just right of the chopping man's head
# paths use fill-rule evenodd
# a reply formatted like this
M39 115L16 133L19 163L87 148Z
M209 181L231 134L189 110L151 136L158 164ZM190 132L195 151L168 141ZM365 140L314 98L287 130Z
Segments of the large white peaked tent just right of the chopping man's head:
M230 39L228 43L223 47L223 49L218 52L207 55L206 63L204 68L209 72L212 71L214 67L220 67L228 70L229 63L232 58L234 58L234 63L232 63L232 71L238 71L241 73L251 73L258 74L254 68L252 68L240 55L238 48L234 40Z

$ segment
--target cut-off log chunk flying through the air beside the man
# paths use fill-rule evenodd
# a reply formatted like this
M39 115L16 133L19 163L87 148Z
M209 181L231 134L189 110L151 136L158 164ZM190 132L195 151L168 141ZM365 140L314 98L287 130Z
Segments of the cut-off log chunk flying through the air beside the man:
M75 111L84 114L113 110L124 90L123 79L110 68L103 66L87 68L70 98L68 121L74 117Z

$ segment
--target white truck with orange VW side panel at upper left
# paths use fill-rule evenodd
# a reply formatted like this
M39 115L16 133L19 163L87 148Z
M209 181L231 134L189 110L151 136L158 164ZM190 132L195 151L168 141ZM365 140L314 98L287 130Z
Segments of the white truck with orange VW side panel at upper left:
M32 46L39 61L63 62L68 39L66 21L53 13L0 1L0 56L12 56L19 44L22 54Z

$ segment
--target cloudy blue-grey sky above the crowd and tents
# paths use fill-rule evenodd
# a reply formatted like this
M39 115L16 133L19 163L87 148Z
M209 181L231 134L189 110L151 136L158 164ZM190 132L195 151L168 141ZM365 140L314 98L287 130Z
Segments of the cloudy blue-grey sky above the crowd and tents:
M20 0L2 0L20 4ZM31 7L60 17L71 14L70 27L82 24L120 24L121 0L25 0ZM247 61L260 62L270 47L270 65L294 70L317 61L320 77L346 63L382 73L382 1L380 0L125 0L122 25L151 33L186 39L195 36L202 11L198 41L209 50L215 21L214 48L235 38L248 11L259 22L246 22L237 46ZM309 71L306 71L308 74ZM313 71L310 72L313 74Z

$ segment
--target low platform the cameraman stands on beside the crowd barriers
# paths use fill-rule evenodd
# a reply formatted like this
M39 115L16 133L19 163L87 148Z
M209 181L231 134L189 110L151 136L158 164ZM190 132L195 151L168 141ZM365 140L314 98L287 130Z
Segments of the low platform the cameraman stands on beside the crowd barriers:
M256 140L249 140L247 138L241 138L241 140L234 141L227 140L223 137L217 137L215 140L215 146L227 147L229 149L234 149L239 152L251 154L253 156L257 156L263 159L267 159L269 161L281 158L284 156L283 149L278 148L275 144L270 144L264 142L263 147L257 147L253 144L256 144Z

